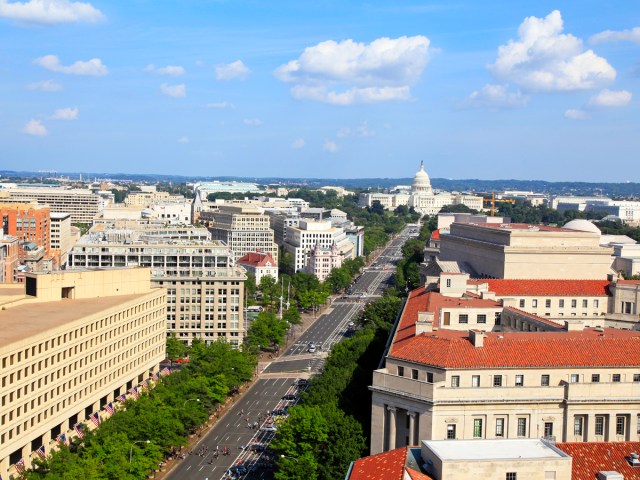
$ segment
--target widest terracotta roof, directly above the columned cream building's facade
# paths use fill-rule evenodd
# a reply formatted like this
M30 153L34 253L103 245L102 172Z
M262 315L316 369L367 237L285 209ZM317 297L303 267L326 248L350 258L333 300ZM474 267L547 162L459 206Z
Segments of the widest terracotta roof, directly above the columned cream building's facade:
M487 332L474 347L468 332L440 329L392 349L397 358L441 368L561 368L640 366L640 332Z

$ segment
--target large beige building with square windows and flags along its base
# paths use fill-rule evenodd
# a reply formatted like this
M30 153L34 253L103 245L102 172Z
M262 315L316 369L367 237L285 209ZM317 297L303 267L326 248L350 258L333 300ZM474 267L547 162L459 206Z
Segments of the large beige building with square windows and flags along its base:
M27 274L0 289L0 476L158 371L166 293L149 269Z

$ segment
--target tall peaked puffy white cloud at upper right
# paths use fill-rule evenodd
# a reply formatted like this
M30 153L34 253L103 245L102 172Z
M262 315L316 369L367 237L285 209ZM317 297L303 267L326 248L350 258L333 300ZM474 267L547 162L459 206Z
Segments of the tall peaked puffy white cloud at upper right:
M599 88L616 78L606 59L585 50L581 39L562 30L558 10L545 18L525 18L519 38L498 48L498 58L489 69L499 80L512 82L525 92Z

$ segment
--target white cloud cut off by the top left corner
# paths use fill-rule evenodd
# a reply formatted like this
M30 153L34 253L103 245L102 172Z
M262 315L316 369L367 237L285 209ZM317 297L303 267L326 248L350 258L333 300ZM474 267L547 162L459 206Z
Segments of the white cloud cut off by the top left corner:
M29 0L11 3L8 0L0 0L0 17L44 25L95 23L106 20L102 12L90 3L69 0Z

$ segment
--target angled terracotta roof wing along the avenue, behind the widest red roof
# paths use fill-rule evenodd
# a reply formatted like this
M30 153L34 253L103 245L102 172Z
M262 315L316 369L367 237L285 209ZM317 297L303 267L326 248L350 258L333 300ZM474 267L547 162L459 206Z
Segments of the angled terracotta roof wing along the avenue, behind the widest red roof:
M418 312L434 312L434 327L438 326L438 318L441 308L501 308L495 300L483 300L480 298L456 298L445 297L438 292L426 292L424 287L417 288L409 293L407 303L402 312L398 329L393 338L391 352L403 343L413 338L416 334L415 323L418 321Z

